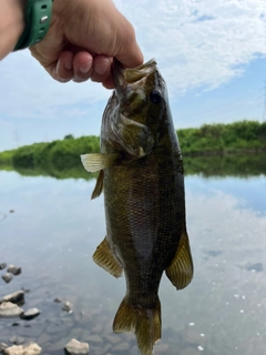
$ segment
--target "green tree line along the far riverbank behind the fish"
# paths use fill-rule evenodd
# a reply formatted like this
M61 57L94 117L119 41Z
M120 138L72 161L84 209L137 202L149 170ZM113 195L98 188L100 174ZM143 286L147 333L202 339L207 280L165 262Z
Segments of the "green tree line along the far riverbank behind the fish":
M238 156L238 162L241 162L245 161L244 154L266 152L266 122L242 121L232 124L204 124L200 129L178 130L178 139L185 156L186 172L198 173L202 171L202 166L206 164L211 166L211 159L206 163L206 155L212 155L212 166L216 166L216 171L222 173L223 162L227 161L226 165L228 165L231 159L222 159L221 156L233 153L243 154L242 158ZM83 168L80 155L99 152L99 141L95 135L74 139L69 134L61 141L24 145L13 151L0 153L0 169L9 170L10 166L13 166L23 174L27 174L27 171L32 174L34 171L35 174L41 173L58 179L65 178L65 174L69 178L84 178L88 176L88 173L85 171L81 173ZM201 159L193 161L192 156L195 155ZM262 164L265 154L263 158ZM232 169L234 170L234 166L239 169L239 164L236 165L233 161L232 159ZM253 161L255 162L256 158ZM76 166L79 168L78 173ZM237 171L235 172L237 173Z

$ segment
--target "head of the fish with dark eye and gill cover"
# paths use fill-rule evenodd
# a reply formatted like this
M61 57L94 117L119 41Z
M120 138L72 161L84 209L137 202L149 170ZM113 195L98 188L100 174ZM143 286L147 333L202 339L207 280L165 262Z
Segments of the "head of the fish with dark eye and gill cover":
M112 132L115 142L131 158L151 153L158 141L166 108L166 87L154 59L124 69L114 60Z

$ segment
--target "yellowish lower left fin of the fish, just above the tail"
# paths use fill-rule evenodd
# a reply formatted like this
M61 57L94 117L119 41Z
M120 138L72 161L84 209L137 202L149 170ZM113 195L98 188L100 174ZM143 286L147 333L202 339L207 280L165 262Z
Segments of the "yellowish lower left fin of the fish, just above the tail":
M120 265L115 256L113 255L106 237L96 247L95 253L92 256L93 261L105 271L108 271L114 277L121 277L123 267Z

